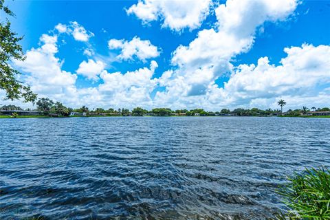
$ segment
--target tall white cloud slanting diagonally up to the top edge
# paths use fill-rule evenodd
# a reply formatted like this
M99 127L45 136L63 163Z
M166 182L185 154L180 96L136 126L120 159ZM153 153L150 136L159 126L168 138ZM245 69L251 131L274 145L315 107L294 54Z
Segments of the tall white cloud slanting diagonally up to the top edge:
M217 26L199 31L188 46L180 45L173 53L177 69L164 83L166 91L157 94L158 102L207 102L214 81L232 72L232 58L250 50L257 28L265 21L283 21L297 5L296 0L228 0L219 5Z

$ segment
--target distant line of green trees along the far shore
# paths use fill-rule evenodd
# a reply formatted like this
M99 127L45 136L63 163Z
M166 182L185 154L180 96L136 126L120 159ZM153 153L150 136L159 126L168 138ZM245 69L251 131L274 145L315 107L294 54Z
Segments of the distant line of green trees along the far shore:
M263 116L263 115L277 115L281 113L279 109L221 109L220 111L205 111L204 109L177 109L172 110L169 108L155 108L151 111L146 109L142 109L141 107L135 107L133 110L119 108L119 109L103 109L103 108L96 108L96 109L89 109L88 107L80 107L78 109L73 109L70 107L65 107L61 102L54 102L49 98L39 98L36 102L36 109L23 109L21 107L17 107L15 105L3 105L0 107L0 110L18 110L18 111L39 111L42 112L43 115L58 115L67 117L71 113L84 113L84 115L108 115L108 116L115 116L115 115L122 115L122 116L142 116L142 115L155 115L155 116L170 116L170 115L186 115L186 116L193 116L193 115L201 115L201 116L208 116L208 115L238 115L238 116ZM312 111L330 111L328 107L318 108L311 107ZM306 114L310 110L307 107L303 107L302 109L289 109L285 114L298 116L301 114Z

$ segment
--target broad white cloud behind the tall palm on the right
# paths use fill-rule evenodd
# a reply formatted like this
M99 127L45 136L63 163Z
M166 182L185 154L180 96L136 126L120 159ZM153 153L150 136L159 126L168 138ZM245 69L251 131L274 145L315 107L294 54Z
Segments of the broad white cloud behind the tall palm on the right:
M281 65L271 65L267 57L259 58L257 65L239 65L223 88L210 89L210 101L267 107L285 97L293 107L296 98L300 105L308 105L311 99L330 104L330 46L302 45L287 47L285 52Z

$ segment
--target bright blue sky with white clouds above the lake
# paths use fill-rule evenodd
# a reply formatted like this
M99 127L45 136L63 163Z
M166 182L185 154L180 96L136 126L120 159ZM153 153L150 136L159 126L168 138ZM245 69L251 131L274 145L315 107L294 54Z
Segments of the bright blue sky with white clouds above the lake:
M39 98L104 109L330 107L330 1L5 4L24 36L26 60L12 66Z

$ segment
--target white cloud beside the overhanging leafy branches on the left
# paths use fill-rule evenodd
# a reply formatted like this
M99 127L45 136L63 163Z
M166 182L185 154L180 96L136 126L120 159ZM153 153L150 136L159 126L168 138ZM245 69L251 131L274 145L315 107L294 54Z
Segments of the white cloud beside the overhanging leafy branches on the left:
M25 83L39 96L69 101L76 98L76 74L61 69L63 61L55 56L58 52L57 36L43 34L41 47L26 52L25 61L14 65L25 74Z

